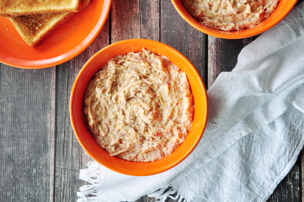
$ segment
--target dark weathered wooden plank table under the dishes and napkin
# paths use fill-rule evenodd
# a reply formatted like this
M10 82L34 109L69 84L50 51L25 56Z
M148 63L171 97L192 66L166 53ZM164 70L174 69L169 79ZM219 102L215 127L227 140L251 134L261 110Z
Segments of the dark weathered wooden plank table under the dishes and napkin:
M0 201L77 200L76 192L85 185L78 179L79 169L92 159L72 131L71 87L78 71L98 50L134 38L161 41L179 50L208 88L220 72L234 68L240 50L256 37L226 40L201 33L179 16L170 0L113 0L101 33L77 57L45 69L1 64ZM303 165L300 154L268 201L304 201ZM144 196L136 201L157 200Z

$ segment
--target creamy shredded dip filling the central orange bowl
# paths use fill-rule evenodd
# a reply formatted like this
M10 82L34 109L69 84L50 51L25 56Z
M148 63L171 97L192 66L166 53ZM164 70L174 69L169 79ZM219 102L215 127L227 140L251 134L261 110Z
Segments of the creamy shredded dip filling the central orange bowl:
M85 94L84 112L98 144L128 161L173 152L190 130L193 110L186 74L147 49L112 58Z

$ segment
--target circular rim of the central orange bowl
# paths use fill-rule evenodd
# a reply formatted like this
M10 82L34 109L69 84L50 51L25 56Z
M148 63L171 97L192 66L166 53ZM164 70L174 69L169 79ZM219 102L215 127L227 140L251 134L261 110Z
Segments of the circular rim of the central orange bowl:
M140 41L141 43L154 43L154 44L158 44L159 46L163 46L166 49L169 49L169 51L173 51L175 54L177 54L178 56L182 57L185 62L187 62L189 64L189 67L191 67L191 70L195 73L195 76L199 79L199 83L200 83L200 88L202 88L203 94L204 94L204 107L205 107L205 120L202 123L202 131L199 131L199 135L196 138L195 144L193 144L191 146L191 148L182 156L182 158L179 158L178 160L176 160L174 163L172 163L171 165L168 165L162 169L157 169L155 171L146 171L146 172L126 172L125 170L121 170L115 166L109 166L104 164L102 161L99 161L98 158L96 158L96 155L89 152L89 149L87 148L87 146L84 144L84 142L81 140L80 138L80 134L76 129L76 124L74 122L74 113L73 113L73 102L74 102L74 96L75 96L75 89L77 87L77 85L80 82L80 78L83 75L85 69L102 53L108 51L109 49L111 49L113 46L119 46L120 44L126 44L126 43L133 43L134 41L138 42ZM114 56L115 57L115 56ZM188 76L187 76L188 77ZM195 100L194 100L195 102ZM74 134L78 140L78 142L80 143L81 147L87 152L88 155L90 155L95 161L97 161L98 163L100 163L101 165L105 166L108 169L111 169L115 172L119 172L125 175L131 175L131 176L149 176L149 175L155 175L164 171L167 171L171 168L173 168L174 166L178 165L180 162L182 162L183 160L185 160L185 158L188 157L188 155L195 149L195 147L197 146L197 144L199 143L200 139L202 138L203 132L206 128L206 123L207 123L207 118L208 118L208 99L207 99L207 92L206 92L206 88L204 83L202 82L202 78L199 75L199 72L197 71L197 69L194 67L194 65L191 63L191 61L189 61L189 59L187 57L185 57L182 53L180 53L178 50L174 49L173 47L158 42L158 41L154 41L154 40L147 40L147 39L129 39L129 40L122 40L113 44L110 44L104 48L102 48L101 50L99 50L97 53L95 53L85 64L84 66L81 68L81 70L79 71L77 77L75 78L73 87L71 89L71 94L70 94L70 102L69 102L69 113L70 113L70 121L71 121L71 125L74 131ZM90 131L91 132L91 131ZM136 162L136 163L149 163L149 162Z

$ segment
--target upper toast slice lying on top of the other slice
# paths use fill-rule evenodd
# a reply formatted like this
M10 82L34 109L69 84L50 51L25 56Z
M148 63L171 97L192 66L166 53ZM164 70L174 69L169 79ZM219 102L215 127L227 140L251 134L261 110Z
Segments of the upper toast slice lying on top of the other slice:
M80 0L0 0L0 16L3 17L78 12L80 8Z

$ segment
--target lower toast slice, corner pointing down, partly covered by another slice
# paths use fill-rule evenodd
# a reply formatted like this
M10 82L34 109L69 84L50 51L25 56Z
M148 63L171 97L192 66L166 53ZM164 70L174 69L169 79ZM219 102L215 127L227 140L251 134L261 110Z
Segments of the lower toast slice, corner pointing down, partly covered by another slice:
M85 9L91 0L81 0L81 9ZM46 13L8 18L22 39L32 47L50 35L77 12Z

